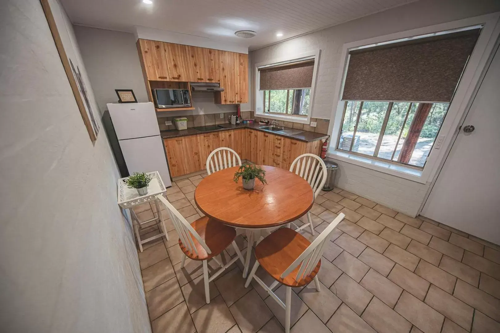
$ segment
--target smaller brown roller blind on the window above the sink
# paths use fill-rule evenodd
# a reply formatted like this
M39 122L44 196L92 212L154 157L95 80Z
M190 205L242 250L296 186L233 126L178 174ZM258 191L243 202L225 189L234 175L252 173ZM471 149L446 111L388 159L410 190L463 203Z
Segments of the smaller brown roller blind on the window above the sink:
M259 69L260 90L310 88L314 60Z

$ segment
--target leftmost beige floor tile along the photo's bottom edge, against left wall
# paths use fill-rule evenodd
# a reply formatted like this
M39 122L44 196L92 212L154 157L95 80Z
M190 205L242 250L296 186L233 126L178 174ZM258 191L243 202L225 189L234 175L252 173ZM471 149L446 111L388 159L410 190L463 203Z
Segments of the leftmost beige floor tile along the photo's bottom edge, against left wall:
M196 331L184 302L152 321L151 328L153 333L194 333Z

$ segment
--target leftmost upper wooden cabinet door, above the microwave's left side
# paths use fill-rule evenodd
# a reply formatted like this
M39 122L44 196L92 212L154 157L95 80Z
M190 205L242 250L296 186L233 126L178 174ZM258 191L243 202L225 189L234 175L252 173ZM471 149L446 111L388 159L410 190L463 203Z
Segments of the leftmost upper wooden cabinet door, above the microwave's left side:
M148 80L168 80L166 54L162 41L139 39L139 52Z

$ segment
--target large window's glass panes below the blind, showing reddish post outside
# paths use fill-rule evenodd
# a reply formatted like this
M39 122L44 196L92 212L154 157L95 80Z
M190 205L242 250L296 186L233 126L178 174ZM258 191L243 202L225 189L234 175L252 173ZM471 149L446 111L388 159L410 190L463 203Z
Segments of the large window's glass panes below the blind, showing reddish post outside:
M423 168L448 104L347 101L337 148Z

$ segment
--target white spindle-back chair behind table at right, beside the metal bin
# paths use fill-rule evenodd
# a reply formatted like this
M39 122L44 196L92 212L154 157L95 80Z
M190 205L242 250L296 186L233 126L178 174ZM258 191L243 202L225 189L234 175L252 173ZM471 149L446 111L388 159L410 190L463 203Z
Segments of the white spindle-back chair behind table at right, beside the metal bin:
M326 181L326 165L323 160L314 154L302 154L293 160L290 172L294 172L309 183L314 193L314 199L316 199ZM302 230L307 226L309 226L311 234L314 235L314 226L309 212L307 212L307 223L296 228L295 231Z

